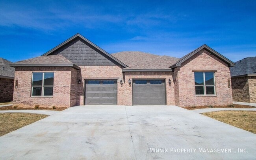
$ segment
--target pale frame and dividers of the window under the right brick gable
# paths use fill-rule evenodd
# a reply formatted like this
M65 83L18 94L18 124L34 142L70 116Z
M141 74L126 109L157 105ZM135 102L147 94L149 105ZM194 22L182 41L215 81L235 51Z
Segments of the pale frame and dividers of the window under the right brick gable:
M207 71L206 71L207 72ZM203 86L204 88L204 94L196 94L196 89L195 89L195 96L196 97L216 97L216 82L215 82L215 72L211 72L213 73L213 82L214 82L214 85L206 85L205 83L205 73L206 72L202 72L203 73L203 79L204 79L204 85L196 85L195 86ZM210 71L208 71L210 72ZM194 72L194 83L195 83L195 73ZM213 89L214 89L214 94L206 94L206 86L214 86Z

